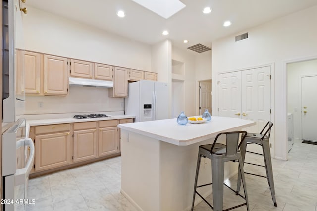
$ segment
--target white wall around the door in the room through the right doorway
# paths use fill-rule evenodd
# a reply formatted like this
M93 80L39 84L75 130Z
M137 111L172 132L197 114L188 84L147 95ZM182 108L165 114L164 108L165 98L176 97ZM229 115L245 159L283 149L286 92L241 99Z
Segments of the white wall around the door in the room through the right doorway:
M314 74L317 75L317 59L287 64L287 111L293 113L296 139L302 137L300 77Z

